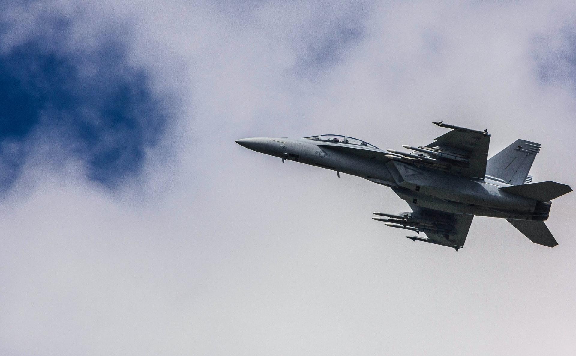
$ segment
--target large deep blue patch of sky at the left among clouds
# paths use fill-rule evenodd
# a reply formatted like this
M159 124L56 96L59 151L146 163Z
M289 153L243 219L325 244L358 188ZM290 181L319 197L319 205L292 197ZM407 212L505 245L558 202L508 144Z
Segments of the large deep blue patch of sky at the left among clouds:
M71 49L70 21L50 21L50 30L0 53L0 187L35 154L35 141L84 160L90 179L115 186L140 172L168 110L146 72L127 64L118 37Z

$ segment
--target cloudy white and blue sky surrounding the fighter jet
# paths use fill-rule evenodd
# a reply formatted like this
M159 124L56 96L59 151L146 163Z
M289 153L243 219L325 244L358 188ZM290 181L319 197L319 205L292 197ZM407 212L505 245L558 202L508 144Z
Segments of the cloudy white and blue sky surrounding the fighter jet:
M488 129L576 186L571 1L0 4L0 354L576 353L559 245L475 217L460 251L386 187L246 150Z

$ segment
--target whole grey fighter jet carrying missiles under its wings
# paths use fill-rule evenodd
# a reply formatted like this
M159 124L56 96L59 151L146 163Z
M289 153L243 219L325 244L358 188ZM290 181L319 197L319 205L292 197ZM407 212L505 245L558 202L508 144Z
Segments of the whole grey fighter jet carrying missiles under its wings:
M380 150L363 140L343 135L302 139L257 137L236 143L253 151L357 175L390 187L408 203L411 212L374 212L372 219L424 236L406 236L448 246L464 246L472 218L506 219L532 242L548 247L558 243L544 220L551 200L572 191L556 182L532 183L528 175L540 144L516 140L488 159L488 130L434 123L451 129L425 146L403 146L409 152Z

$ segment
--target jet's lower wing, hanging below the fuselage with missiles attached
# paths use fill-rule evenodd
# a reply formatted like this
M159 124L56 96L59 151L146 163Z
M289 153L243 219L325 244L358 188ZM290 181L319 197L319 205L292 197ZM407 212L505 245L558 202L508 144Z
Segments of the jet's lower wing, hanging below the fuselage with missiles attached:
M422 208L415 204L409 203L408 205L414 211L410 215L412 219L430 221L433 228L420 228L420 231L426 234L427 239L420 238L420 236L406 236L407 238L453 247L456 248L456 251L464 246L473 215L451 214Z

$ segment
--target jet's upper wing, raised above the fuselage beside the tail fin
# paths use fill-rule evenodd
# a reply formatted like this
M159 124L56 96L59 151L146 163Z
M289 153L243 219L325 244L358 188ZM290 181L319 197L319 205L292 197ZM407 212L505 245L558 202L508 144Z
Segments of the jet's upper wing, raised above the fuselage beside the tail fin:
M490 146L488 132L448 125L442 121L434 124L452 131L437 137L433 143L422 148L438 152L434 158L449 163L448 170L451 173L461 177L484 179Z

